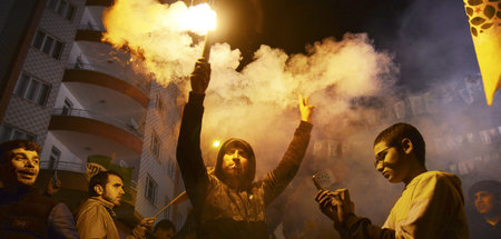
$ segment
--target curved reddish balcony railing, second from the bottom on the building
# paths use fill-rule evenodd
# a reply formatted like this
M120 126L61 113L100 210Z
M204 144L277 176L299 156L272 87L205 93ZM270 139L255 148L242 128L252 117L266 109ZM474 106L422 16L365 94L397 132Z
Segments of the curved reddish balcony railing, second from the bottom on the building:
M108 76L112 76L120 80L124 80L137 88L139 88L143 92L147 93L150 80L146 79L144 76L136 74L134 71L126 67L116 67L116 66L99 66L99 64L88 64L88 63L69 63L68 69L84 69L98 71L101 73L106 73Z

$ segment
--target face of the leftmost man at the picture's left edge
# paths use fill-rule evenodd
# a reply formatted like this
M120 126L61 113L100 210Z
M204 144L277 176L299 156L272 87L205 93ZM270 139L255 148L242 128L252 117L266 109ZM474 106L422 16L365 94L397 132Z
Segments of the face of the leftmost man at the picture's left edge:
M10 152L10 159L1 166L3 182L13 186L32 186L40 171L38 152L23 148L13 149Z

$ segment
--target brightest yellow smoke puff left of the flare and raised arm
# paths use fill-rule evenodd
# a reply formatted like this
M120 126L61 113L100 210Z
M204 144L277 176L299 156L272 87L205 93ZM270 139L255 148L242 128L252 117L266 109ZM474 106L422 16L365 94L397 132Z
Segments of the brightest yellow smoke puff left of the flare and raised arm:
M187 28L193 28L190 16L200 11L188 9L181 1L169 6L155 0L116 0L104 12L107 32L102 40L129 50L135 70L153 73L159 83L167 86L189 74L200 56L203 42L194 43L187 33Z

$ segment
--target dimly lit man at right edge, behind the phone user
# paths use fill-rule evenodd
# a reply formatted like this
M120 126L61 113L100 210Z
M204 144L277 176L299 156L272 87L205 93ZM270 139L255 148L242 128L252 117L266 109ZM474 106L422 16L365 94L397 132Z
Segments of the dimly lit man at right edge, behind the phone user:
M470 220L470 237L501 238L501 183L495 180L475 182L468 191L474 200L475 212Z

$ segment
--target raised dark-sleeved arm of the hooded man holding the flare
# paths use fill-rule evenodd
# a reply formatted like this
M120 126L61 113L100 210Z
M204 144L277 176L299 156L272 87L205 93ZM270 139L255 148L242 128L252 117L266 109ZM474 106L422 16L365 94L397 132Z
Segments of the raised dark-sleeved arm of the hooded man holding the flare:
M183 111L176 158L186 192L196 207L205 196L208 177L200 150L202 118L205 90L210 81L210 64L200 59L190 76L191 91Z

